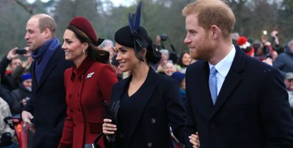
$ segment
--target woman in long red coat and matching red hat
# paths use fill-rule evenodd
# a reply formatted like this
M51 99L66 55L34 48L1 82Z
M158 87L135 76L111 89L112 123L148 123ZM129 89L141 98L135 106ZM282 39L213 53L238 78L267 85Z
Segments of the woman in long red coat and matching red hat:
M63 39L65 58L74 65L64 72L68 107L59 148L82 148L102 132L103 100L109 102L117 79L107 64L109 53L97 47L101 39L88 20L73 18ZM99 143L103 145L102 140Z

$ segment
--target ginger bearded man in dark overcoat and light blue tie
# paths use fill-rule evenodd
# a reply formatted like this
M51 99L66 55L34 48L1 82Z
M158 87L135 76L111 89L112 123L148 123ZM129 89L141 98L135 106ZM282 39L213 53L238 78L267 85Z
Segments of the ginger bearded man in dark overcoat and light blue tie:
M293 147L293 121L278 71L232 44L234 14L223 1L183 9L192 58L186 71L186 146ZM198 134L197 134L198 133Z

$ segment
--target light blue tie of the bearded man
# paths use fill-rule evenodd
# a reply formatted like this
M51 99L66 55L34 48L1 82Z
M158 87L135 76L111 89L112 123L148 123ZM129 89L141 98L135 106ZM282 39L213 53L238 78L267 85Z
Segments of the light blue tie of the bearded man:
M217 78L215 77L216 73L217 69L213 66L210 69L210 80L208 81L208 85L210 86L210 96L213 99L213 104L215 104L215 101L217 100Z

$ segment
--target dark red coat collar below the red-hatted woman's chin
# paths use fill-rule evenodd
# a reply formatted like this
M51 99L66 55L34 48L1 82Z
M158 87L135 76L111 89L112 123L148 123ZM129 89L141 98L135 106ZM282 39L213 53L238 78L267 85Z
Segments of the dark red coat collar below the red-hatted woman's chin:
M83 62L80 64L78 68L73 65L73 70L71 74L71 80L73 80L75 77L80 79L80 75L83 75L90 66L92 66L92 63L94 63L94 59L87 57L83 60Z

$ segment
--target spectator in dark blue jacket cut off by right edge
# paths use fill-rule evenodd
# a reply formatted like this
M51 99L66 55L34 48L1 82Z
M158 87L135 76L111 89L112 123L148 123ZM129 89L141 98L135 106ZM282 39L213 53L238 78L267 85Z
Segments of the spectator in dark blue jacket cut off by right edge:
M293 39L289 41L285 51L277 56L273 66L279 69L283 76L285 76L285 73L293 71Z

